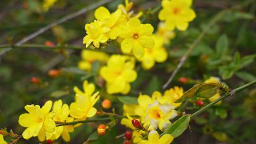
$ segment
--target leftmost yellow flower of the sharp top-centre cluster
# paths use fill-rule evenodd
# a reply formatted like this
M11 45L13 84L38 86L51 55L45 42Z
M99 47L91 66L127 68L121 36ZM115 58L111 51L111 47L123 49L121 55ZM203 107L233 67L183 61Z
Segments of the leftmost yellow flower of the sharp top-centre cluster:
M100 47L100 43L106 43L109 37L106 33L110 31L109 27L103 27L103 24L99 20L95 20L90 24L85 25L86 36L83 38L83 44L88 47L91 43L96 47Z

